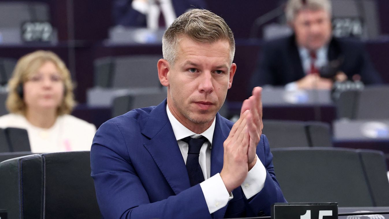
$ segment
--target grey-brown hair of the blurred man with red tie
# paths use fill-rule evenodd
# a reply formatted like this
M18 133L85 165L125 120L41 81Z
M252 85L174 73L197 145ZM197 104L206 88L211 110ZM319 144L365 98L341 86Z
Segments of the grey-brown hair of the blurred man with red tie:
M329 0L289 0L285 9L286 20L288 22L293 21L298 12L303 9L310 9L312 11L324 10L328 12L330 17L332 13L331 2Z

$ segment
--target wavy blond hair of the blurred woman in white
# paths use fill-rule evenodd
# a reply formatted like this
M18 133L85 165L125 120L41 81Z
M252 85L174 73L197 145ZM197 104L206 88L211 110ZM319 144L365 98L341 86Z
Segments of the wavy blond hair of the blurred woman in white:
M70 72L60 57L51 51L43 50L26 54L16 63L12 77L8 81L9 93L5 103L9 112L25 114L26 103L19 95L19 86L23 86L23 83L28 81L30 75L37 72L37 70L47 61L51 61L57 67L65 89L65 96L63 97L61 105L58 107L57 114L60 116L72 112L75 100Z

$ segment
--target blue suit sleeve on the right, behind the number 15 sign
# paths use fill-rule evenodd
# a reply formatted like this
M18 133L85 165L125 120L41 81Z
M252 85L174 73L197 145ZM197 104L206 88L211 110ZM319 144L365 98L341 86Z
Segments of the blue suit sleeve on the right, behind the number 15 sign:
M253 198L249 199L249 206L252 209L254 215L249 215L250 217L258 217L263 212L264 215L270 215L270 207L273 203L277 202L286 202L284 195L282 194L280 185L275 178L274 166L273 166L273 155L270 152L269 142L265 135L261 136L263 141L262 145L257 146L257 154L265 153L265 161L263 161L266 168L266 179L263 189L257 193Z

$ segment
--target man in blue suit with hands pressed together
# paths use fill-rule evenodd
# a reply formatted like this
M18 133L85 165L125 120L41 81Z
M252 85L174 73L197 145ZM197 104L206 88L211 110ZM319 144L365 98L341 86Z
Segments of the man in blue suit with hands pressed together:
M236 65L222 18L194 9L166 30L158 77L167 99L100 126L92 177L104 218L224 218L270 215L285 202L262 133L261 88L231 123L217 111Z

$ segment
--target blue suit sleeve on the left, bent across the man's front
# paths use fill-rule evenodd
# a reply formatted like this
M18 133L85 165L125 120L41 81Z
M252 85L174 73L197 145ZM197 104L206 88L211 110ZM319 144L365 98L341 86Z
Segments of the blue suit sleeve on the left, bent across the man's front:
M200 185L150 203L123 135L111 121L93 139L91 176L103 218L211 218Z

